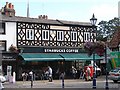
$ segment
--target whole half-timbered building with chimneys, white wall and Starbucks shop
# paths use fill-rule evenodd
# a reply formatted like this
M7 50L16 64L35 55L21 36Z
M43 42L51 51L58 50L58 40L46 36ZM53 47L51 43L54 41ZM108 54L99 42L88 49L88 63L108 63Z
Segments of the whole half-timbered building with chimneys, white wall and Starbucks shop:
M17 79L21 78L23 71L30 70L39 76L47 65L53 68L55 74L65 61L69 76L69 69L73 64L76 65L73 62L92 59L81 48L87 41L96 41L95 30L89 22L52 20L46 15L39 18L19 17L15 16L14 8L7 4L0 15L0 49L5 74L7 66L12 66ZM11 45L20 49L20 52L11 53Z

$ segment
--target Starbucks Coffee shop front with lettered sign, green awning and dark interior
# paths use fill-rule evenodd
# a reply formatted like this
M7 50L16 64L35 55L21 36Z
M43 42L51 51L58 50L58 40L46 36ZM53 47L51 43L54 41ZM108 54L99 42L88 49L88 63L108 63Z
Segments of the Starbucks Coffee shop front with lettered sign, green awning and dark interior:
M84 63L86 60L93 59L93 56L89 57L87 53L80 52L79 48L42 48L44 52L39 53L27 52L26 50L24 48L24 51L17 58L17 61L21 61L17 67L19 68L17 70L18 79L22 78L23 72L29 73L31 70L34 71L36 79L41 79L47 66L51 66L53 69L53 79L59 79L56 73L58 69L65 71L65 78L71 78L72 65L79 69L78 61ZM96 55L96 60L100 59L101 57Z

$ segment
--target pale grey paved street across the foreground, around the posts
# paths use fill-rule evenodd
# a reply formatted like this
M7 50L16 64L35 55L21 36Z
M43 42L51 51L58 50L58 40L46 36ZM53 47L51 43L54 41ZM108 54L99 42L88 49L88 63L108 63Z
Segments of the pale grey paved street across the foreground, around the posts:
M105 88L105 76L100 76L96 79L97 88ZM108 80L110 89L120 90L120 82L113 83L113 81ZM3 83L4 88L31 88L31 81L17 81L16 83ZM48 82L48 80L33 81L32 88L62 88L62 80L53 80L53 82ZM64 88L92 88L92 81L85 81L83 79L65 79ZM6 89L5 89L6 90Z

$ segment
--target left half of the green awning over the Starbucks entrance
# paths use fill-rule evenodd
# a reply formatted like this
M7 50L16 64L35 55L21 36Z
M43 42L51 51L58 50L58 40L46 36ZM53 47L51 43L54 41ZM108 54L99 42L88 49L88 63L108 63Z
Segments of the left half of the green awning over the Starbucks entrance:
M22 53L21 56L25 61L63 60L63 58L56 53Z

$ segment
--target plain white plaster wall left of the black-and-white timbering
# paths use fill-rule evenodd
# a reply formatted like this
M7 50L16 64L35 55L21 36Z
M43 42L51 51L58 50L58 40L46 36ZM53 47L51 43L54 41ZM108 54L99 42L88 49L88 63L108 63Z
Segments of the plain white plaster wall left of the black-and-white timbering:
M6 22L5 32L5 35L0 35L0 40L6 40L6 49L8 51L11 44L16 46L16 22Z

